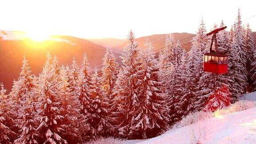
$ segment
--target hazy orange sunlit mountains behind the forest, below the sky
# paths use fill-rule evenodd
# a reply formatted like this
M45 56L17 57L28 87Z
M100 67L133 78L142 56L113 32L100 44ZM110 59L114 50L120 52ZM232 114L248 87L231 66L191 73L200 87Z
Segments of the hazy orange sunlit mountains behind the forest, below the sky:
M144 36L136 38L140 48L145 48L144 43L148 37L153 43L154 50L164 48L166 34ZM190 33L174 33L176 40L182 40L182 47L186 51L191 48L193 34ZM252 33L256 42L256 32ZM189 38L187 38L189 37ZM184 38L187 38L183 40ZM46 52L50 52L52 56L56 55L62 64L72 63L72 57L75 57L80 65L84 52L88 56L91 68L101 65L105 54L105 47L111 46L116 57L120 56L123 48L128 44L127 40L120 39L81 39L74 36L51 36L46 43L33 42L24 36L24 32L0 31L0 82L5 84L5 88L12 88L13 79L17 79L22 66L22 58L25 55L31 67L32 74L38 75L42 71L46 60ZM156 41L155 41L156 40ZM161 49L163 50L163 49ZM156 52L160 52L158 50ZM117 59L121 63L120 58ZM100 68L98 68L100 69Z

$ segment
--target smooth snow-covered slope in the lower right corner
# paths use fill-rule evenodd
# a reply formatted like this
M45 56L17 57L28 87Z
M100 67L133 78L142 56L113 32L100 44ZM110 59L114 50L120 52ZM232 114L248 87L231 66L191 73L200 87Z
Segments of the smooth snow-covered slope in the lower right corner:
M251 102L251 105L255 102ZM236 105L242 108L246 103ZM127 144L256 144L256 108L233 112L235 107L194 124L172 129L161 136L143 141L124 141Z

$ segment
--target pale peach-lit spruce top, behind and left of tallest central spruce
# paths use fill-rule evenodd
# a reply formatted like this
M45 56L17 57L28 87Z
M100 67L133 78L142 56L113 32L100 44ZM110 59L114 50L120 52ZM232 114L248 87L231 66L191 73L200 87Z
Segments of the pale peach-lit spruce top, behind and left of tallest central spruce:
M116 57L110 47L106 48L106 54L103 57L103 67L101 68L101 71L102 87L107 93L108 98L110 98L118 74L118 64L116 63Z

